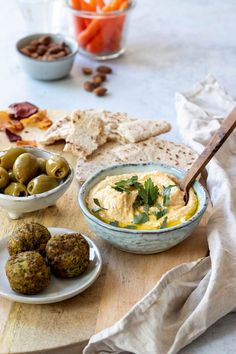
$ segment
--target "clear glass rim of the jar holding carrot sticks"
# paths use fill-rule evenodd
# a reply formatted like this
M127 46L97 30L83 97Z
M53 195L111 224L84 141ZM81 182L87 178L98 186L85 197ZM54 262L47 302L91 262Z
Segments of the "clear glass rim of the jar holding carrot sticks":
M123 13L129 12L135 7L136 0L129 0L129 7L127 9L110 11L110 12L94 12L94 11L77 10L72 7L72 5L70 4L70 0L65 0L65 5L67 9L74 15L86 17L86 18L99 18L99 17L102 18L102 17L119 16L122 15Z

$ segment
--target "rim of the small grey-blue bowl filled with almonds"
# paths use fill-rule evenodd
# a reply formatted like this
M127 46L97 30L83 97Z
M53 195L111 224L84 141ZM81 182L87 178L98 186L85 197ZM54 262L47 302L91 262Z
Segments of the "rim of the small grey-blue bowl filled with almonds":
M25 40L28 40L29 42L33 39L36 39L36 38L39 38L39 37L42 37L42 36L49 36L49 37L57 37L58 39L61 39L62 41L64 41L71 49L71 53L66 55L65 57L63 58L58 58L58 59L55 59L55 60L40 60L40 59L37 59L37 58L31 58L29 57L28 55L22 53L20 51L21 49L21 42L25 41ZM73 46L72 44L73 43ZM68 59L71 59L73 58L77 53L78 53L78 44L77 42L74 40L73 37L71 36L65 36L61 33L32 33L32 34L29 34L27 36L24 36L20 39L18 39L18 41L16 42L16 45L15 45L15 48L16 48L16 51L19 55L21 55L22 57L24 58L27 58L29 60L32 60L33 62L38 62L38 63L47 63L47 64L54 64L54 63L58 63L58 62L63 62L63 61L67 61Z

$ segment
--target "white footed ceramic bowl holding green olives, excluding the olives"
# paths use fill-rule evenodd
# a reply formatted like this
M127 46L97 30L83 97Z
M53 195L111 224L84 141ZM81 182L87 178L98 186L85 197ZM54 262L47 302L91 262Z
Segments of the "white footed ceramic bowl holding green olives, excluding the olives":
M48 159L52 152L37 149L34 147L24 147L27 152L34 154L37 157ZM0 207L8 212L10 219L19 219L25 213L36 210L41 210L49 206L55 205L56 201L66 192L73 180L74 172L70 166L70 172L66 179L59 184L58 187L51 189L48 192L35 194L28 197L12 197L0 193Z

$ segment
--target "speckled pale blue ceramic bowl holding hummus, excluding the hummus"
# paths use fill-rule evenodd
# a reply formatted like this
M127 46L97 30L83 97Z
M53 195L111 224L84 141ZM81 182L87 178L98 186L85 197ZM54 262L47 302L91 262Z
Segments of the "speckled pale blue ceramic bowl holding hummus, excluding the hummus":
M183 170L159 163L123 164L101 170L84 183L79 192L79 205L91 230L98 237L101 237L103 240L123 251L138 254L152 254L168 250L191 235L199 224L208 203L207 193L197 181L194 183L193 188L199 200L198 210L191 219L177 226L162 230L132 230L119 228L106 224L89 211L86 204L86 197L91 188L106 176L125 173L135 174L137 172L155 170L174 175L178 179L181 179L185 174Z

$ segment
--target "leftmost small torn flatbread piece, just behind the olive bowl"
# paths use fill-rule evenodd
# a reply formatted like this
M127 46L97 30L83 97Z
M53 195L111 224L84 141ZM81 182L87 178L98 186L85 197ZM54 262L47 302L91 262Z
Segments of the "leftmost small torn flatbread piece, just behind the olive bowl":
M41 144L51 145L59 140L66 140L67 136L72 131L72 121L70 116L59 119L59 121L53 123L53 125L45 133Z

